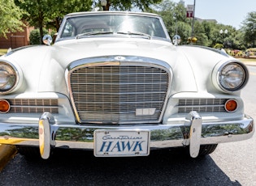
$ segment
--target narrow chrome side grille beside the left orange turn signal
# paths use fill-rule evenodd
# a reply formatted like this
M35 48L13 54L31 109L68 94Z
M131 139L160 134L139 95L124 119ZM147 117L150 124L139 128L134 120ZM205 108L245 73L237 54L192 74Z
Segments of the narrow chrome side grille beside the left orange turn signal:
M58 99L8 99L10 112L22 113L58 113Z

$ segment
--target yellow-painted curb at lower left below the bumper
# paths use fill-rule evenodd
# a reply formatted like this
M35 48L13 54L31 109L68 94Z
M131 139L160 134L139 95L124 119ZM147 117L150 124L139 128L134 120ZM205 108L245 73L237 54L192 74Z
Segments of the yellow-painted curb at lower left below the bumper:
M15 146L0 144L0 171L15 156L16 152Z

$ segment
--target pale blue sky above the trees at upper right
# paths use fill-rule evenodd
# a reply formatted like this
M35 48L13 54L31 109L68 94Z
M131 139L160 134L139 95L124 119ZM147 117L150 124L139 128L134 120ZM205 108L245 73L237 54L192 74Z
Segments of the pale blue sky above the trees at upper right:
M180 2L180 0L172 0ZM184 0L193 5L194 0ZM231 25L239 29L249 12L256 11L256 0L195 0L195 17L215 19L218 23Z

